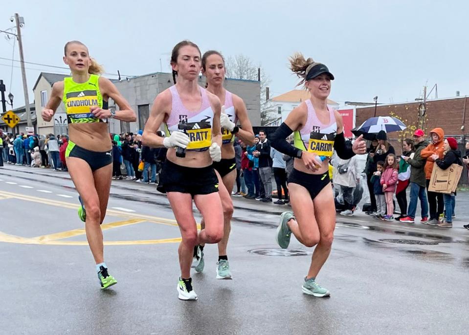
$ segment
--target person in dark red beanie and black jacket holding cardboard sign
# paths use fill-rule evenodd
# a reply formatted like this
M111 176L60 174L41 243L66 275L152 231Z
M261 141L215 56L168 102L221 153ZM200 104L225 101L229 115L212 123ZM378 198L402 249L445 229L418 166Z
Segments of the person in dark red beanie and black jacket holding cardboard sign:
M458 150L458 142L454 137L448 137L444 142L444 153L445 156L443 159L438 157L438 154L433 154L432 158L435 160L436 165L440 169L446 170L452 164L463 165L461 161L461 152ZM443 199L445 201L445 212L446 218L443 217L438 223L439 227L451 228L453 226L453 208L456 202L456 194L451 192L451 194L443 194Z

